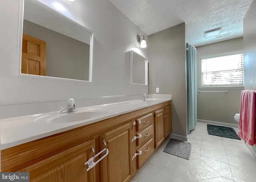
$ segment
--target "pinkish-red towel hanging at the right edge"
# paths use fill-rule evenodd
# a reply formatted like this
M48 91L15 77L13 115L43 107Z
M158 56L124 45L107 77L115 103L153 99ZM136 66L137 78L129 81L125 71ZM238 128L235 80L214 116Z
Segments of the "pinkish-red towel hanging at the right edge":
M238 136L249 145L256 144L255 91L242 90Z

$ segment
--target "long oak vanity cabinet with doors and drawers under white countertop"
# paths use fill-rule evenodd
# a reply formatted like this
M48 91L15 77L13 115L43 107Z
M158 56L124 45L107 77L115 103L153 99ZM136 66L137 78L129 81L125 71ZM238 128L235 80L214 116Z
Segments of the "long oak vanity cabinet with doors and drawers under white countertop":
M169 106L160 103L6 148L1 172L30 172L31 182L129 182L170 133ZM104 140L108 155L87 171L92 146L98 154L106 147Z

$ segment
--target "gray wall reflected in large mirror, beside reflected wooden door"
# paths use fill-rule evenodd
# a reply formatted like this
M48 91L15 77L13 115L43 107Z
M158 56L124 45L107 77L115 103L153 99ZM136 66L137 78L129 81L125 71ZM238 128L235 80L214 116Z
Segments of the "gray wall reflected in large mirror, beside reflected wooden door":
M46 42L46 76L89 80L90 45L27 20L23 33Z

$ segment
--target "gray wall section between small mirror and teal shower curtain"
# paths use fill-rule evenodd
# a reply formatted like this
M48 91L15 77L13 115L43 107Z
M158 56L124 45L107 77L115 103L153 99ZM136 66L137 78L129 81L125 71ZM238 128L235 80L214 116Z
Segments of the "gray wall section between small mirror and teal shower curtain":
M172 133L187 136L185 23L148 36L149 93L172 94Z

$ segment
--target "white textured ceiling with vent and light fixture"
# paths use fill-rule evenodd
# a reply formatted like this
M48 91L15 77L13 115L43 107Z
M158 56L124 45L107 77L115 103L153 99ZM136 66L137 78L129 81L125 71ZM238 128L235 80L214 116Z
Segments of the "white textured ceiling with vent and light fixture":
M194 46L243 36L243 20L252 0L110 0L145 34L186 24L186 41ZM220 38L204 32L221 28Z

